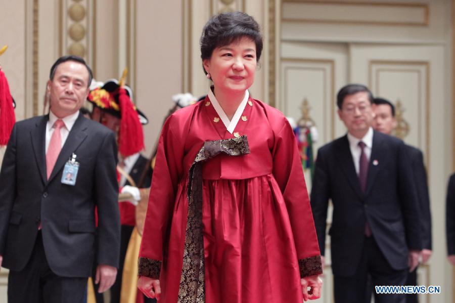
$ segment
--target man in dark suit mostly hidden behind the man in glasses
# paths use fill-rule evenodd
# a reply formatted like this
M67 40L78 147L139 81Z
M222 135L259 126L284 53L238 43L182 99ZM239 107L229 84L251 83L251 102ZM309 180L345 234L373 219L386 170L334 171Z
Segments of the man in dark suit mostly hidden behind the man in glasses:
M383 98L375 98L375 119L373 128L383 134L392 135L396 127L395 106ZM414 146L406 145L407 154L411 159L417 198L420 207L420 224L422 230L422 263L427 263L432 254L431 248L431 211L430 196L427 185L427 171L423 160L423 153ZM407 276L406 285L417 285L417 268ZM417 293L406 294L406 302L417 303Z

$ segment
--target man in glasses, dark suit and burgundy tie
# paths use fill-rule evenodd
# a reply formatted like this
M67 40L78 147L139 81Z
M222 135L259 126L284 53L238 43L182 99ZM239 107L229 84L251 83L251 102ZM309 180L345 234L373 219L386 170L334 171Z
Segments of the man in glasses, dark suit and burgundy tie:
M372 103L364 85L338 92L338 115L348 133L320 148L315 163L310 202L322 255L329 199L333 204L329 235L337 303L365 301L368 275L374 285L404 285L421 250L406 148L373 131ZM375 293L375 300L404 302L404 295Z

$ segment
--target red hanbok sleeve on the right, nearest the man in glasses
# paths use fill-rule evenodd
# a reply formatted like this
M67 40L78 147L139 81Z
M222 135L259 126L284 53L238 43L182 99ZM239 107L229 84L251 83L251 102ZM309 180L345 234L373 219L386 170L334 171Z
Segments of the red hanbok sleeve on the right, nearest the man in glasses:
M283 123L284 126L276 135L272 150L273 174L288 209L300 276L322 274L321 255L303 176L302 162L291 125L284 117Z

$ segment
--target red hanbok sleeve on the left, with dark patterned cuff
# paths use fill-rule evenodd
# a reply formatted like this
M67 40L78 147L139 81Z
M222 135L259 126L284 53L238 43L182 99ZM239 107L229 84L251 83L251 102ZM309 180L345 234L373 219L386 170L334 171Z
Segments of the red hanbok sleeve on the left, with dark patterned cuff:
M158 279L163 247L169 233L178 181L183 175L184 140L172 131L170 116L164 123L156 154L144 232L139 253L140 276ZM178 125L177 125L178 126Z

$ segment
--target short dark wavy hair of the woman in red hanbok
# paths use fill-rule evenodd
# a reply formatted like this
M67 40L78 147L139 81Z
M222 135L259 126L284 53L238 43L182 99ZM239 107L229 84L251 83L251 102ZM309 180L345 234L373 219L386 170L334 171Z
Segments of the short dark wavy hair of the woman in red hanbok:
M230 45L242 37L254 41L256 61L259 61L262 53L262 35L259 24L253 17L242 12L227 12L213 16L202 29L201 59L210 59L214 49Z

